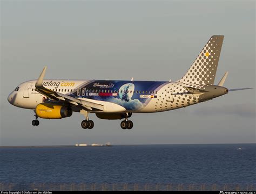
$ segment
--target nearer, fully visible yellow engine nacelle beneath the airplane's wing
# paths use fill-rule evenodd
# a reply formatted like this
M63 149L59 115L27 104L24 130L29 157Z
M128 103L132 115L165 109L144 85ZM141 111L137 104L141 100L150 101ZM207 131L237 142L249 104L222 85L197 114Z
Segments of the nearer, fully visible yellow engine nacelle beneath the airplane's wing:
M68 106L41 103L36 107L36 114L38 117L44 119L61 119L70 117L72 115L72 109Z

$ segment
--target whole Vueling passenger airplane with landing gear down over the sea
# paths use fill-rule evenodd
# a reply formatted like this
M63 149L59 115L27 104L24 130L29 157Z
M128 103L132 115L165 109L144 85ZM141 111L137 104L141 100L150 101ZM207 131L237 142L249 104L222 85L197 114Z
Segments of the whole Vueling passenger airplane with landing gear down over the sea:
M223 87L228 72L214 85L224 35L213 35L201 50L190 69L180 80L44 80L46 67L37 80L23 82L8 96L10 104L35 112L33 126L43 119L84 115L82 128L94 126L89 113L100 119L124 119L121 128L131 129L132 113L153 113L180 109L237 91Z

